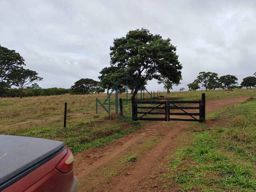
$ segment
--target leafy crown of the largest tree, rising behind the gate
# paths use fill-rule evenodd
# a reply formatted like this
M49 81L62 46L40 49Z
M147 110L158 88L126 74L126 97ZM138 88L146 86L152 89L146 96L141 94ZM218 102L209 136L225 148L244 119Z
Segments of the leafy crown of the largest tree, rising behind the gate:
M128 71L137 81L138 88L157 74L170 79L181 76L182 65L178 62L176 47L170 41L144 28L129 31L125 37L114 39L114 45L110 47L111 65Z

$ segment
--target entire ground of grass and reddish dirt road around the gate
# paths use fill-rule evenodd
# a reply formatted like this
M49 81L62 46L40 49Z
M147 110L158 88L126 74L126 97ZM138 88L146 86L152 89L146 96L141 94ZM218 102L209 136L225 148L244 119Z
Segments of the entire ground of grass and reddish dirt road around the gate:
M204 92L160 95L163 100L199 100ZM109 116L102 107L94 118L96 98L104 101L106 94L0 98L0 134L65 142L74 152L81 192L127 185L142 191L152 186L153 191L254 191L256 89L205 93L206 123L132 121ZM128 100L125 108L130 105ZM127 183L124 177L130 174ZM136 185L147 174L144 185Z

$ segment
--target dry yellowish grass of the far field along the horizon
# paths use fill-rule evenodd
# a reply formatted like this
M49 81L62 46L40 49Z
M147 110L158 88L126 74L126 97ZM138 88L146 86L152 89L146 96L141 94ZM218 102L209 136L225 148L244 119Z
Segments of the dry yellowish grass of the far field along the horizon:
M184 92L161 92L165 97L172 97L179 100L198 100L205 91L184 91ZM142 93L143 94L143 93ZM152 93L153 94L153 93ZM145 98L150 95L145 92ZM155 92L155 96L156 96ZM159 93L158 93L159 95ZM238 89L234 91L215 90L208 91L206 98L231 98L238 96L256 96L256 89L246 90ZM107 94L88 94L88 95L70 95L59 96L37 96L26 98L0 98L0 123L2 125L13 124L34 119L42 119L50 116L62 115L64 111L64 102L68 102L68 112L94 112L96 110L96 98L102 102ZM119 95L120 97L120 95ZM126 98L126 94L121 94ZM142 95L143 97L143 95ZM130 98L130 95L128 96ZM115 95L112 94L111 101L114 102ZM140 99L140 93L138 94ZM130 102L130 101L129 101ZM114 107L114 106L113 106ZM102 107L100 107L102 109Z

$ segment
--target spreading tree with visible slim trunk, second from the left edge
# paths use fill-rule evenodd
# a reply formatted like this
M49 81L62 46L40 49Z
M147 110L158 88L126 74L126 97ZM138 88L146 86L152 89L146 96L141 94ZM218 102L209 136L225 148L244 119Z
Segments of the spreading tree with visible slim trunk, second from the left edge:
M25 86L43 80L42 77L38 77L36 71L24 69L22 67L12 70L9 74L9 78L12 85L18 87L20 90L20 98L22 98L22 91Z

